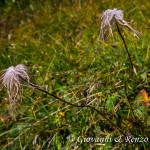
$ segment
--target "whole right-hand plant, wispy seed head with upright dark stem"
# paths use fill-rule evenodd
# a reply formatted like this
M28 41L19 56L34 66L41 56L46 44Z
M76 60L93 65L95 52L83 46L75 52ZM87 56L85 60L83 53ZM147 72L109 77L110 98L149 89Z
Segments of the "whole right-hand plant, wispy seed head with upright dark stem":
M101 29L100 29L100 36L102 37L103 40L106 40L108 38L108 36L111 34L112 35L112 38L114 40L114 37L113 37L113 26L114 24L116 24L116 27L117 27L117 31L118 31L118 34L119 36L121 37L122 41L123 41L123 44L125 46L125 49L126 49L126 52L128 54L128 57L129 57L129 60L130 60L130 63L131 63L131 66L132 66L132 70L131 70L131 75L129 76L129 78L125 81L125 85L124 85L124 88L125 88L125 94L126 94L126 97L127 97L127 100L128 100L128 103L129 103L129 106L130 106L130 109L132 111L132 114L134 116L134 119L135 121L137 121L136 119L136 116L134 114L134 111L133 111L133 108L132 108L132 105L131 105L131 102L129 100L129 96L127 94L127 82L131 79L131 77L133 76L133 73L134 73L134 66L133 66L133 63L132 63L132 60L131 60L131 56L129 54L129 51L128 51L128 48L127 48L127 45L126 45L126 42L125 42L125 39L124 37L122 36L121 34L121 31L119 29L119 24L123 26L123 29L125 30L125 27L127 27L137 38L138 38L138 35L142 36L142 34L138 31L136 31L135 29L133 29L127 21L124 20L124 13L122 10L118 10L117 8L114 8L113 10L111 9L108 9L106 10L105 12L103 12L101 15L100 15L100 19L102 20L101 21ZM105 32L107 30L110 30L110 33L108 34L107 38L105 38Z

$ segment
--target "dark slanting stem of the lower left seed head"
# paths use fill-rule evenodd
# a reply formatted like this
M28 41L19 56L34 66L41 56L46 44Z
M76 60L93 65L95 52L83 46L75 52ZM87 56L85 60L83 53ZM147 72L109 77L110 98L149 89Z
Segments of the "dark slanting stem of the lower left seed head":
M126 134L122 131L122 129L120 129L117 125L115 125L108 117L106 117L106 115L105 115L104 113L100 112L100 111L97 110L96 108L94 108L94 107L92 107L92 106L90 106L90 105L80 105L80 106L79 106L79 105L75 105L75 104L69 103L69 102L67 102L67 101L65 101L65 100L63 100L63 99L61 99L61 98L59 98L59 97L57 97L57 96L55 96L55 95L53 95L53 94L51 94L51 93L45 91L45 90L43 90L43 89L41 89L40 87L38 87L38 86L35 85L35 84L29 83L29 85L31 85L32 87L34 87L36 90L42 91L42 92L44 92L44 93L46 93L46 94L48 94L48 95L50 95L50 96L52 96L52 97L54 97L54 98L60 100L60 101L62 101L62 102L64 102L64 103L68 104L68 105L71 105L71 106L74 106L74 107L82 107L82 108L83 108L83 107L89 107L89 108L95 110L95 111L96 111L97 113L99 113L103 118L105 118L107 121L109 121L110 124L113 125L121 134L123 134L124 136L126 136Z

